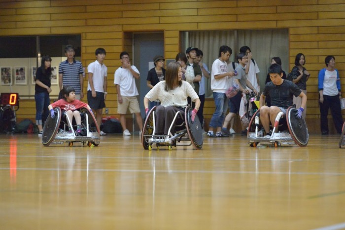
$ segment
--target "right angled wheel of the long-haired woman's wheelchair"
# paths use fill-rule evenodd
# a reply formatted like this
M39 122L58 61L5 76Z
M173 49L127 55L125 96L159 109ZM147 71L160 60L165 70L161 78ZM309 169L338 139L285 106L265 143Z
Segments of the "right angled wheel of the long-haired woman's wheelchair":
M194 121L192 121L192 111L193 109L191 107L186 107L184 111L184 120L186 121L186 129L192 145L197 150L200 150L203 148L204 143L203 127L198 116L195 116Z

